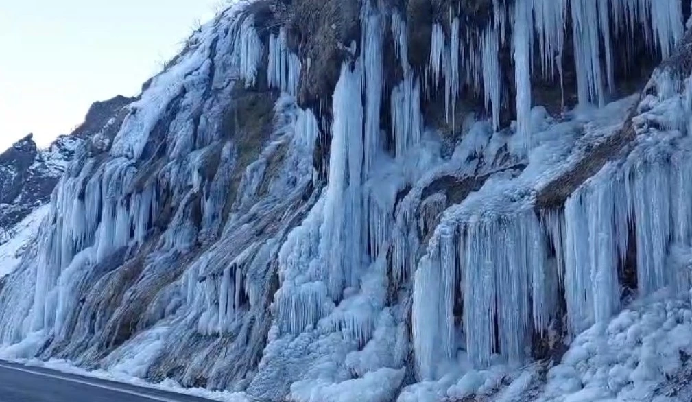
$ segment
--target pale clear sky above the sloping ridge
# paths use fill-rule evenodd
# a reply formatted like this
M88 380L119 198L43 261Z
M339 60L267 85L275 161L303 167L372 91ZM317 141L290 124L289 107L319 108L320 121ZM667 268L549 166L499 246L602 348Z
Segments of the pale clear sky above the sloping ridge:
M91 103L133 96L219 0L0 0L0 152L68 134Z

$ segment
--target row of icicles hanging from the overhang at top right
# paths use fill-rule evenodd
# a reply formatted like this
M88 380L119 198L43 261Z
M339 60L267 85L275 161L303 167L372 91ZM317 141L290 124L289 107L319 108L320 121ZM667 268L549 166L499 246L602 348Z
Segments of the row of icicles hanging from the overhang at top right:
M493 127L500 125L500 110L507 95L502 85L499 49L511 44L516 87L517 131L525 150L531 147L531 76L540 66L543 76L563 81L565 27L572 19L574 70L579 103L603 105L614 91L612 33L644 33L650 53L668 57L683 33L680 0L493 0L493 19L483 33L464 29L459 16L450 12L449 32L442 24L432 27L430 62L426 69L436 91L444 80L447 118L453 118L455 102L466 86L482 93ZM569 15L568 15L569 13ZM509 27L509 28L508 28ZM511 32L511 38L507 39ZM536 43L538 46L536 46ZM534 63L538 48L540 63ZM605 55L601 55L601 49ZM605 59L605 66L601 60ZM606 91L606 88L608 91Z

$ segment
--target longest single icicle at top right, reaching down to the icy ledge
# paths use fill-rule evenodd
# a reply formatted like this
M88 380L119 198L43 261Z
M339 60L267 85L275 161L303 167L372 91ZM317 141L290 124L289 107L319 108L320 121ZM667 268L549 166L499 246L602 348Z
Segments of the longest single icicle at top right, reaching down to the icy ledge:
M517 133L524 152L531 149L531 49L533 48L531 0L518 0L514 9L514 75L516 82Z

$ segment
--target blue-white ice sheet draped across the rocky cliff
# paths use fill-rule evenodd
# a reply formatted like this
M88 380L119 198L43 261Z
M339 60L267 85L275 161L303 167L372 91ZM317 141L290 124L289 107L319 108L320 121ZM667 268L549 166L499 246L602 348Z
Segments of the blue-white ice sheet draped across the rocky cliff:
M639 291L673 282L676 290L689 288L692 203L685 194L692 190L692 165L684 134L690 120L680 116L692 110L692 91L677 95L684 86L672 77L657 75L639 104L633 121L640 138L627 161L585 182L565 212L537 214L533 203L538 190L570 172L591 147L612 139L635 102L583 105L561 121L542 107L531 109L534 51L545 75L561 75L571 12L580 100L599 103L605 100L600 86L613 82L610 28L644 26L652 30L650 48L666 53L679 39L680 8L670 2L654 10L650 0L603 3L610 10L594 0L569 7L566 1L521 0L511 10L506 2L493 4L495 24L482 35L469 33L453 10L448 33L447 24L434 24L427 73L419 76L408 61L401 15L390 17L365 1L360 52L354 48L355 60L341 68L331 127L295 104L300 60L288 51L283 28L269 33L268 85L282 94L270 138L243 170L241 146L221 129L235 85L252 86L260 76L264 44L253 17L243 12L231 10L203 27L132 105L111 158L77 150L78 161L53 197L44 246L29 250L0 295L17 310L0 309L0 322L10 323L1 327L1 342L14 344L6 352L35 356L53 336L69 348L56 344L46 355L74 352L118 376L175 372L184 365L177 376L182 383L204 378L209 387L246 389L252 398L311 402L393 400L403 367L410 365L421 382L401 391L399 401L473 394L515 401L534 379L532 369L518 369L525 345L549 330L558 289L567 295L572 336L592 322L603 328L619 309L617 270L630 246L632 219ZM384 124L389 18L403 75L385 106L392 121ZM515 136L512 129L496 132L504 91L511 92L503 87L498 60L510 32L519 105ZM421 101L441 96L443 87L446 119L455 130L462 90L482 95L489 115L487 122L462 122L462 140L447 159L439 138L424 129L421 109ZM388 125L392 132L383 136ZM331 148L320 149L323 156L316 143L324 145L327 137ZM385 138L392 140L387 151ZM318 161L329 167L326 187L313 167L316 156L329 158ZM147 176L149 169L156 174ZM439 179L473 183L439 188ZM163 227L162 217L170 217ZM118 250L137 259L110 271ZM107 274L95 282L90 275L101 275L97 269ZM124 301L104 298L75 317L82 289L109 289L104 283L122 284ZM142 302L147 305L138 322L129 322L122 311ZM86 316L97 310L93 327L103 345L111 347L120 334L104 327L136 332L104 360L93 357L101 345L70 338L73 326L79 329L74 338L91 335ZM594 343L600 347L602 339ZM560 387L603 378L592 370L594 361L580 357L594 346L580 345L563 362L574 367L551 374L565 379ZM648 360L657 353L666 356L664 369ZM646 351L640 360L647 361L628 378L644 383L680 368L682 359L668 354ZM620 367L610 372L616 385L609 387L625 382ZM582 395L603 394L598 384Z

